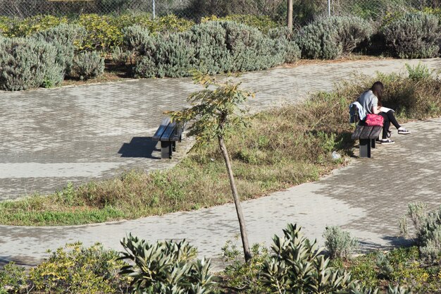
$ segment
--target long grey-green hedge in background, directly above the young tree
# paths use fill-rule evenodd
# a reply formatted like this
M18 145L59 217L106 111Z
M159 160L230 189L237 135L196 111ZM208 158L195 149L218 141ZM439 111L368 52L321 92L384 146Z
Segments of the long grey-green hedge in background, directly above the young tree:
M192 69L210 74L256 71L300 56L293 42L271 39L254 27L230 21L201 23L190 31L170 35L149 37L149 32L139 27L126 32L128 49L139 56L135 76L143 78L182 77Z

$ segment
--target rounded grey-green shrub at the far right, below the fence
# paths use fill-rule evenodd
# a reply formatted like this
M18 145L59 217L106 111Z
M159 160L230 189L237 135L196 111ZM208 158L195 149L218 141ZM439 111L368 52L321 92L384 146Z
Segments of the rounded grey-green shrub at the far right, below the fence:
M402 59L437 56L440 20L425 13L406 13L383 27L387 48Z

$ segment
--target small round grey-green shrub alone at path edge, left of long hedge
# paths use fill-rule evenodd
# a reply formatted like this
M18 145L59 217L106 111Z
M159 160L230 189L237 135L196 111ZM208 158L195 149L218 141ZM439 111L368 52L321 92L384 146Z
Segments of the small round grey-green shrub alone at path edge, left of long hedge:
M104 59L95 51L82 52L73 58L73 75L88 80L104 73Z

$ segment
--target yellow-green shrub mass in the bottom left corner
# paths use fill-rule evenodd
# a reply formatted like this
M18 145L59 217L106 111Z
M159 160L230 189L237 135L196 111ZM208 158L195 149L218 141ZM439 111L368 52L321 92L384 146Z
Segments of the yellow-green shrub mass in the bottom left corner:
M8 289L6 293L128 293L132 279L119 274L125 265L118 261L117 252L104 250L99 243L91 247L73 243L58 248L29 271L6 264L0 285Z

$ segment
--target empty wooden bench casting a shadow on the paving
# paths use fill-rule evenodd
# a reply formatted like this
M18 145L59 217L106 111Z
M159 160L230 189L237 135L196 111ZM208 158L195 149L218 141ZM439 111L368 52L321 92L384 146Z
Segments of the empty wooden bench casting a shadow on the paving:
M163 118L161 125L151 140L161 142L161 159L171 159L176 151L176 142L181 142L185 125L170 122L170 118Z

